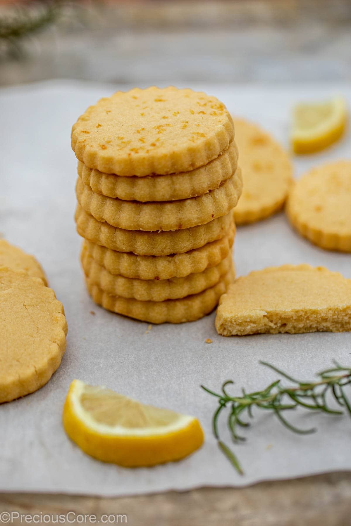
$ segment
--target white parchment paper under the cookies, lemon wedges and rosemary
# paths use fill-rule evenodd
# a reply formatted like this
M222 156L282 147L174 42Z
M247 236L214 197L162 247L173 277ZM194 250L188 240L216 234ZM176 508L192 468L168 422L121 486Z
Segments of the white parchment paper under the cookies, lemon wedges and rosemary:
M259 359L304 379L329 366L332 358L349 365L350 333L223 338L215 331L212 313L193 323L153 326L145 334L148 323L109 313L89 298L78 262L76 159L69 136L78 115L117 88L51 82L0 90L0 231L42 262L68 322L67 350L51 381L33 395L0 406L0 490L124 495L351 469L347 416L299 410L292 421L317 426L318 432L297 436L274 416L256 412L247 443L234 446L246 473L238 476L212 436L216 400L199 387L204 383L217 390L232 378L237 390L263 388L277 375L258 365ZM195 88L217 95L233 113L262 124L284 144L296 100L342 93L351 103L349 86ZM296 176L327 159L350 158L350 145L348 135L325 153L296 159ZM351 277L350 255L309 244L290 228L283 213L238 228L235 262L238 275L268 265L307 262ZM205 343L206 338L213 343ZM89 458L67 438L61 424L74 378L197 416L206 434L204 446L181 462L152 469L123 469ZM229 443L225 418L220 429Z

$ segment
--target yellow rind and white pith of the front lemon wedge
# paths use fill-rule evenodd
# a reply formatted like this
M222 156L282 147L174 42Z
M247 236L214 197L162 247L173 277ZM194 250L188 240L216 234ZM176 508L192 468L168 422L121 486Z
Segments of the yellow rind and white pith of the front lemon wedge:
M124 467L154 466L180 460L198 449L204 440L198 420L173 411L159 410L161 419L167 413L164 425L138 427L109 426L97 422L81 403L86 389L81 380L73 380L63 410L63 425L69 438L88 455ZM139 402L128 397L126 404ZM143 406L147 410L151 406ZM156 408L151 408L156 411ZM174 418L173 418L174 417Z

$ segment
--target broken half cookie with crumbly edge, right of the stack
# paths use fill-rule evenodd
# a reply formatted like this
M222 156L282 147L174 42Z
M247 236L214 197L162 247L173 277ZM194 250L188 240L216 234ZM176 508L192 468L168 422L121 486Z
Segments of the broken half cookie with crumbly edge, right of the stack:
M351 330L351 279L324 267L283 265L237 278L219 301L223 336Z

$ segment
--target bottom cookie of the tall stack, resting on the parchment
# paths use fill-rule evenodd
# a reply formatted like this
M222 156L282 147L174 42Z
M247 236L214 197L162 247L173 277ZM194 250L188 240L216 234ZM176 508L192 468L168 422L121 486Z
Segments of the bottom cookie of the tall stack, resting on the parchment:
M182 299L166 301L139 301L111 296L88 279L86 279L86 286L95 303L107 310L149 323L183 323L198 320L212 312L220 296L233 282L234 277L235 272L232 268L214 287Z

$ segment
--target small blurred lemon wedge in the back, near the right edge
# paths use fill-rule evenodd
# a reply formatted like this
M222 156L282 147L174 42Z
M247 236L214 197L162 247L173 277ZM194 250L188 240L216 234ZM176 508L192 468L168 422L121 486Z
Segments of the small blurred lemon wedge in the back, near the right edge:
M333 144L344 133L347 105L343 97L323 103L297 104L291 142L296 154L310 154Z

